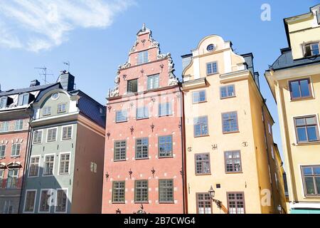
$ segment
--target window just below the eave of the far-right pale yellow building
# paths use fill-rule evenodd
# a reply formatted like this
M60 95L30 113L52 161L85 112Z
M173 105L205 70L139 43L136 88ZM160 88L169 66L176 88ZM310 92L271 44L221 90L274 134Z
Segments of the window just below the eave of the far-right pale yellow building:
M309 78L289 81L289 89L292 100L311 98L311 86Z

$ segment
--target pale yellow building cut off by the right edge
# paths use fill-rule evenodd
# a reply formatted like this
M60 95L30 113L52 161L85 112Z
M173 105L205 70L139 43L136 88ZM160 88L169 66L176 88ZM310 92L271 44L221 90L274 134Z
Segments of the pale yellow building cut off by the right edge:
M320 4L284 19L289 47L265 72L277 102L291 213L320 213Z

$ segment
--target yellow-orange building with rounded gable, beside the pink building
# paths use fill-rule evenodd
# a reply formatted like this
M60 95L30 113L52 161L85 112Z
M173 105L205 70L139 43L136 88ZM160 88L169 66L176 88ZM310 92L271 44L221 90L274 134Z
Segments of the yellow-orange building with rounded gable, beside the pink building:
M252 54L237 55L211 35L182 58L188 213L279 213L279 205L285 212L274 197L282 191L274 121Z

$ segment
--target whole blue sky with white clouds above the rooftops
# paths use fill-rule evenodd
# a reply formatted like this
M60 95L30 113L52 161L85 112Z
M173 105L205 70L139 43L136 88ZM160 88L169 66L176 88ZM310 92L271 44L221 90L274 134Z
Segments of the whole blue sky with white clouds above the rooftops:
M271 21L262 21L262 4L270 4ZM263 73L287 47L282 19L309 12L314 0L256 1L102 1L0 0L1 89L28 87L46 66L49 82L67 69L77 88L105 104L114 86L117 66L127 61L137 31L146 23L163 53L170 52L181 76L181 55L190 53L204 36L218 34L233 42L236 53L252 52L260 72L262 94L276 124L277 107Z

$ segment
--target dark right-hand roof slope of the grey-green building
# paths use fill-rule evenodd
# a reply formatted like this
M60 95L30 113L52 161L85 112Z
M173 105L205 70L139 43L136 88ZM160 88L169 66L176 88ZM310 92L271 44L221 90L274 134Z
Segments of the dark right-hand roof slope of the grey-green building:
M73 90L69 92L71 95L79 95L80 99L78 102L78 108L80 113L90 118L92 121L105 128L105 105L97 102L97 100L91 98L81 90ZM102 110L102 113L101 113Z

